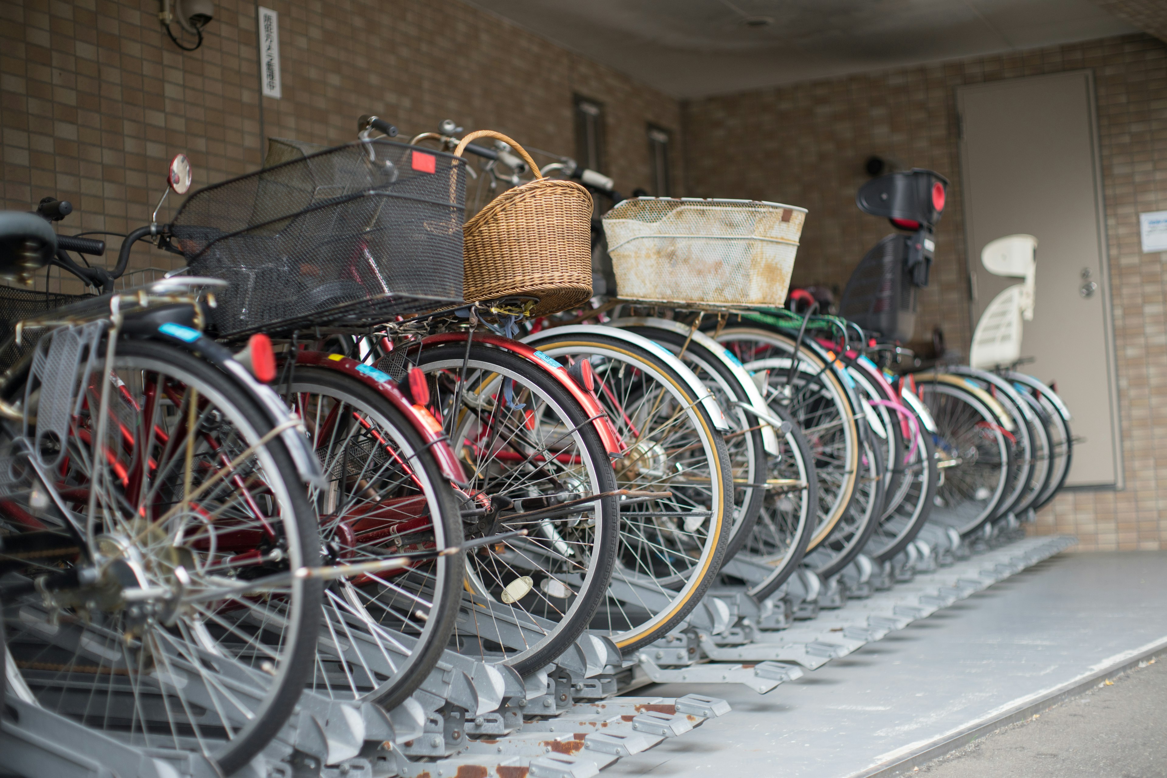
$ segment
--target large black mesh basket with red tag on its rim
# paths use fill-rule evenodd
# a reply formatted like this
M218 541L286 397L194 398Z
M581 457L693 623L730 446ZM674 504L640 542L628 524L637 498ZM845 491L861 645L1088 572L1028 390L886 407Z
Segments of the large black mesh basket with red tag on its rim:
M365 327L462 301L464 201L462 160L359 141L201 189L173 244L221 336Z

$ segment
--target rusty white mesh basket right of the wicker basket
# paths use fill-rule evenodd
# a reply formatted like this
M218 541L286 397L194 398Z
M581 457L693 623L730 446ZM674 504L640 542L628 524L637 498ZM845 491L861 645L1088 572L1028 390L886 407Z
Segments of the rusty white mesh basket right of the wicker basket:
M603 217L621 299L781 306L806 209L756 199L636 197Z

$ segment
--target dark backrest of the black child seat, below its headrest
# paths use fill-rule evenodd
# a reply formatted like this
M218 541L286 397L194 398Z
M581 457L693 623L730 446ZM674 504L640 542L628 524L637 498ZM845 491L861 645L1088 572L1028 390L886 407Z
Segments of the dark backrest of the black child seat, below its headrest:
M889 234L872 246L847 280L840 316L894 341L911 339L920 302L920 288L906 267L911 240Z

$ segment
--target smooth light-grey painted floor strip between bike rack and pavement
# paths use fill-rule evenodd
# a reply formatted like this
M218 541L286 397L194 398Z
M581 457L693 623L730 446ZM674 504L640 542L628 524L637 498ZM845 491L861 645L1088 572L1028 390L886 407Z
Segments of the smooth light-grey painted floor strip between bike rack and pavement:
M603 775L869 775L1159 643L1167 553L1061 554L767 695L712 685L638 692L698 692L734 710Z

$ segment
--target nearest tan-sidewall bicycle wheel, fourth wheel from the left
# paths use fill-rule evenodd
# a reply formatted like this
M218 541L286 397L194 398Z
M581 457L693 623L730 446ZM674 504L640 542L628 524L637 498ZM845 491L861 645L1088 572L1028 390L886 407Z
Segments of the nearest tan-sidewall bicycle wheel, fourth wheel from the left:
M679 624L717 579L733 478L721 433L691 384L651 350L594 329L551 330L537 343L552 357L592 364L600 404L629 447L614 462L620 488L671 492L620 514L612 590L592 629L628 653Z

